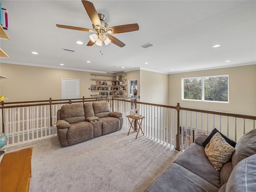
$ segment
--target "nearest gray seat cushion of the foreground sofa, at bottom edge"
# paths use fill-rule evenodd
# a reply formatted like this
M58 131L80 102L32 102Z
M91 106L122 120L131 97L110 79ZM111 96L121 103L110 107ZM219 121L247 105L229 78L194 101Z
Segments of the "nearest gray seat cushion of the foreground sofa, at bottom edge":
M146 192L218 192L218 190L216 186L198 175L173 163L153 182Z

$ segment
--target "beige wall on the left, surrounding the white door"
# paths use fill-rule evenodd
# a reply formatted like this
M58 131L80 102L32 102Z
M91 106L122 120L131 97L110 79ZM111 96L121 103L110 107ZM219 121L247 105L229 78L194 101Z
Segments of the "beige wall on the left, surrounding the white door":
M80 79L80 98L93 94L88 88L95 84L90 72L62 70L1 63L1 95L6 102L61 99L61 78Z

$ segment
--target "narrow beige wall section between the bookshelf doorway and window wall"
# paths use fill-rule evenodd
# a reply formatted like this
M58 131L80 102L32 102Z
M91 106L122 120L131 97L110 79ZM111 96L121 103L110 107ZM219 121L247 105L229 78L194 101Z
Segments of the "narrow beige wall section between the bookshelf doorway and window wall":
M168 75L140 70L140 101L168 104Z

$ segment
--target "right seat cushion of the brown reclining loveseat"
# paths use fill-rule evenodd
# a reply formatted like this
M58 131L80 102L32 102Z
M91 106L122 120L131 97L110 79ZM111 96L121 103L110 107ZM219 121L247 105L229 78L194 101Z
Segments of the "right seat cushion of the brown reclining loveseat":
M102 121L102 135L116 132L120 128L120 120L115 117L100 118Z

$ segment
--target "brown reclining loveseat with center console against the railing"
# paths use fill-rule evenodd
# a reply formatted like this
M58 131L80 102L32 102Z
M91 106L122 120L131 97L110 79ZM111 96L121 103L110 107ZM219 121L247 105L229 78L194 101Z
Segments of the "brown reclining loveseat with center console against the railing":
M122 129L123 116L111 112L108 102L63 105L57 112L57 134L62 147Z

